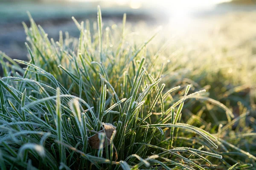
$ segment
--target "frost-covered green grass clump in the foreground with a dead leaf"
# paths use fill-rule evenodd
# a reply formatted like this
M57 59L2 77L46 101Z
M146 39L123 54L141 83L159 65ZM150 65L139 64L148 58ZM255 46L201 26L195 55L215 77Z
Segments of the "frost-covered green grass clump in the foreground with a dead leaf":
M31 16L23 24L29 62L0 54L1 169L255 168L253 94L239 95L211 62L160 61L157 32L129 41L125 18L103 29L98 8L98 28L73 18L79 39L60 31L58 42ZM215 96L206 83L229 91Z

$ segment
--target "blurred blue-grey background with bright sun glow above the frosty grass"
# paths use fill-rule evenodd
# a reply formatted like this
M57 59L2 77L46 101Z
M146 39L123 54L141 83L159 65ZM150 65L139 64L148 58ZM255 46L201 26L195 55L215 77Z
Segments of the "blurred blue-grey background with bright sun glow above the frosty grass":
M95 21L97 5L101 6L103 22L110 26L122 22L123 13L127 13L128 23L163 25L165 34L198 42L207 38L207 43L210 38L215 46L227 42L223 39L231 40L227 42L230 46L234 42L252 42L256 36L256 29L248 29L256 25L254 0L0 0L0 51L12 58L26 59L26 36L21 24L24 21L29 25L26 11L48 37L58 40L60 30L78 37L71 17ZM225 35L221 40L214 36L220 31Z

